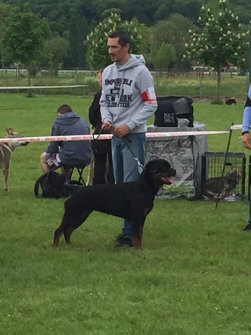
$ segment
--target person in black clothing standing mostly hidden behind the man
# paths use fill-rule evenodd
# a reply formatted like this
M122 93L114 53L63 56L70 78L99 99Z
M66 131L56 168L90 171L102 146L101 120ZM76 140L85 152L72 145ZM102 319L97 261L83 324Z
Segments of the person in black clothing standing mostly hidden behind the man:
M102 85L102 71L98 72L98 83ZM101 96L101 89L94 94L94 99L89 107L89 121L94 128L94 134L98 134L101 129L101 114L99 99ZM103 131L102 131L103 132ZM94 154L94 176L92 185L114 183L112 158L111 158L111 140L98 139L92 141L93 154ZM108 163L107 173L106 162Z

